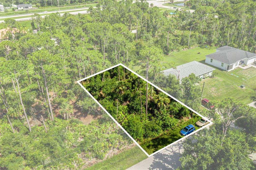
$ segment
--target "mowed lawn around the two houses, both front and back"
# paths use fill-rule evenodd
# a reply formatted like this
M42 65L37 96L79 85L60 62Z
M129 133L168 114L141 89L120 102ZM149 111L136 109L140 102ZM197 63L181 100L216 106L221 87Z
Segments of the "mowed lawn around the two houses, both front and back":
M179 52L173 52L164 57L163 62L175 61L175 66L185 64L191 61L198 61L205 63L205 55L214 53L214 47L196 47ZM200 54L198 54L200 52ZM209 64L206 64L209 65ZM212 65L209 65L214 67ZM170 68L170 66L168 66ZM250 96L256 90L256 68L250 67L248 69L237 68L236 70L227 72L214 67L218 75L214 78L207 78L200 81L199 85L202 88L205 82L203 97L209 100L221 100L225 97L234 97L244 104L249 104L252 101ZM245 85L242 89L239 86Z

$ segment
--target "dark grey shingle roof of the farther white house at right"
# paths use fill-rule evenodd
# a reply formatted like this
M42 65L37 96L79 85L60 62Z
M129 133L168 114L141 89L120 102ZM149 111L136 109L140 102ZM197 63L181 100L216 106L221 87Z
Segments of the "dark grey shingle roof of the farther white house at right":
M229 65L234 64L240 60L243 60L246 58L250 59L256 56L256 54L254 53L229 47L229 46L223 46L223 47L217 48L216 50L219 50L219 51L206 56L211 59L218 60L222 63L226 63Z

